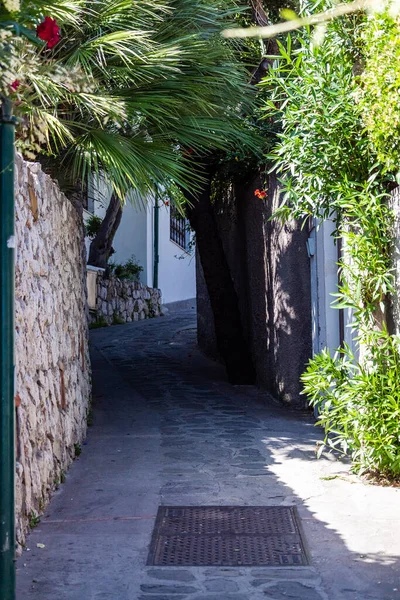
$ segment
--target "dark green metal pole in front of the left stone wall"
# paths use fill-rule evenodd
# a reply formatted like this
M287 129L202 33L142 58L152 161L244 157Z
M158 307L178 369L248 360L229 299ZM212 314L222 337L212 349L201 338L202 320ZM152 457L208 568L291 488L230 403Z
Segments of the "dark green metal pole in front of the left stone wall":
M0 114L0 598L15 598L14 135L12 103Z

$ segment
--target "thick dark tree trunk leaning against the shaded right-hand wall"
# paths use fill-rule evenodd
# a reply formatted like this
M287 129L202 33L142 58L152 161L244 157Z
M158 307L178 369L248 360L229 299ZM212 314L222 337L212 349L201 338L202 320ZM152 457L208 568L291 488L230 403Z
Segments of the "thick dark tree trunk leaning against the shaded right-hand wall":
M186 193L186 214L196 233L196 244L214 315L218 351L229 381L237 385L255 382L255 371L243 333L239 301L210 201L211 176L202 192Z

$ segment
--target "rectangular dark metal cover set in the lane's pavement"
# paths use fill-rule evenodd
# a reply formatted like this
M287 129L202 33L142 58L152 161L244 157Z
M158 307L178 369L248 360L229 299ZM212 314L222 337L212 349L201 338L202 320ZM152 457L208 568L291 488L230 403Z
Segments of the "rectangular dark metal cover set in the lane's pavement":
M293 506L161 506L148 565L305 566Z

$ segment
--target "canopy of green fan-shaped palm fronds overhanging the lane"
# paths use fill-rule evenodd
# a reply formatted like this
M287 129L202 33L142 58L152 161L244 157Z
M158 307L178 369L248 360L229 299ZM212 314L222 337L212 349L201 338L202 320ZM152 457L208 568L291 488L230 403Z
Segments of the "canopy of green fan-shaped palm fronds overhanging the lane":
M220 36L239 11L235 0L36 4L31 14L22 2L20 25L48 10L61 41L52 50L15 42L20 140L61 160L72 180L102 172L120 197L155 181L193 187L200 178L186 149L257 146L243 119L255 94L240 48Z

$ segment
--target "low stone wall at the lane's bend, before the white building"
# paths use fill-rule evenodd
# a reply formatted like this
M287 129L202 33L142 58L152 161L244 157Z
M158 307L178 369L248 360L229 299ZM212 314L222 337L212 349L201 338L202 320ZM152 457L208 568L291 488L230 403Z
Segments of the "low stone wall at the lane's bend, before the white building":
M160 290L97 273L96 308L89 313L91 327L131 323L160 314Z

